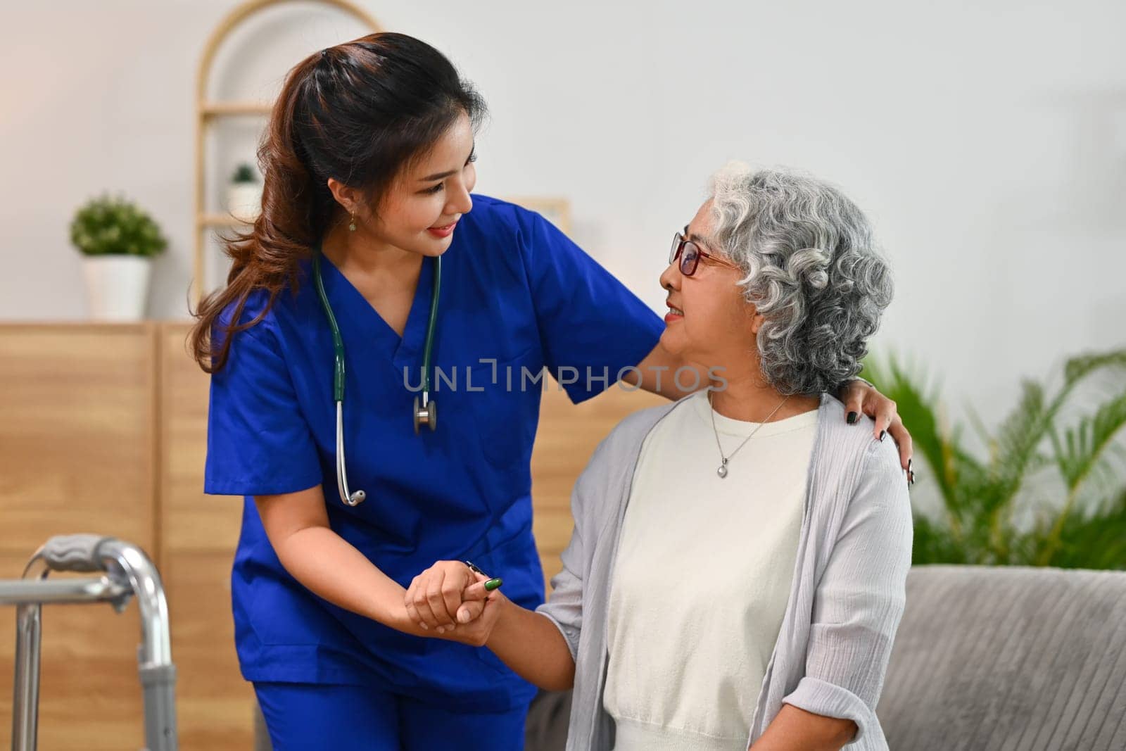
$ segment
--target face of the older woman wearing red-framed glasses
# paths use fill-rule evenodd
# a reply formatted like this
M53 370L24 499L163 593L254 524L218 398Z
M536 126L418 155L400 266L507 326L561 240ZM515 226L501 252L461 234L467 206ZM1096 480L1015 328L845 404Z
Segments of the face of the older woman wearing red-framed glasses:
M715 218L712 202L696 212L685 238L695 242L712 258L700 258L695 272L685 276L680 270L681 257L661 274L661 286L668 292L664 333L661 345L683 359L706 367L747 361L748 352L756 352L754 306L743 297L738 286L743 272L724 258L712 240ZM753 324L753 325L752 325Z

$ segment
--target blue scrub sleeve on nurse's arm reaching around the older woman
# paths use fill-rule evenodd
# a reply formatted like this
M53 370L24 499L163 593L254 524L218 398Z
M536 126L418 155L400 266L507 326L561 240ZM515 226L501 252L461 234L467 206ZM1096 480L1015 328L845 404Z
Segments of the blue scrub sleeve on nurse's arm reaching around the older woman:
M544 361L578 404L641 363L664 322L543 216L518 209L517 222Z

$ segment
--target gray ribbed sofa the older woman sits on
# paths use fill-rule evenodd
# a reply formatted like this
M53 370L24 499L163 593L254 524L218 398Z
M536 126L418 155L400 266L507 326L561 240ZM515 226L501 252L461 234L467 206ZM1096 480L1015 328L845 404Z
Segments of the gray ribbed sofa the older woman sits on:
M542 692L527 751L569 712ZM1126 750L1126 572L912 567L876 715L893 751Z

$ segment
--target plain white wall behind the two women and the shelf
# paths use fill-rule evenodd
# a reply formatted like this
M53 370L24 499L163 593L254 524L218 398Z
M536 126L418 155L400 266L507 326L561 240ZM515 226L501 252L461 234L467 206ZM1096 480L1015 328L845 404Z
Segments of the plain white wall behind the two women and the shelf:
M86 315L68 224L106 188L171 239L153 316L186 314L195 68L235 5L0 6L0 319ZM741 158L805 168L869 212L897 276L876 345L929 364L955 404L997 417L1019 377L1126 345L1119 0L361 5L488 98L479 190L569 197L575 239L654 309L672 231ZM223 93L270 90L356 35L309 17L227 51Z

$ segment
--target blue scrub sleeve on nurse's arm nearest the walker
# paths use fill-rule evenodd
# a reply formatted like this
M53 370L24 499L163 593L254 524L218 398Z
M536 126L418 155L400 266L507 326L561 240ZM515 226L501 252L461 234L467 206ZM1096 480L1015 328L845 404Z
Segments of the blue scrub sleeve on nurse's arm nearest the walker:
M205 493L271 495L323 481L274 336L263 323L233 334L226 365L212 375Z

